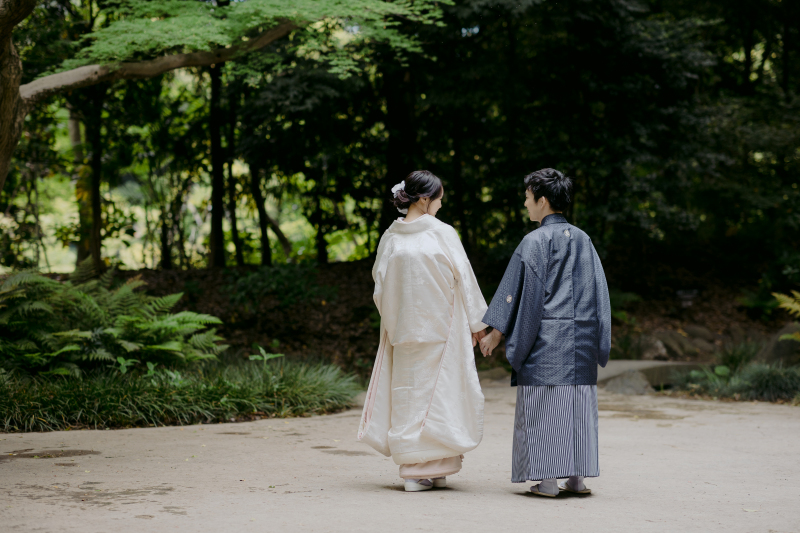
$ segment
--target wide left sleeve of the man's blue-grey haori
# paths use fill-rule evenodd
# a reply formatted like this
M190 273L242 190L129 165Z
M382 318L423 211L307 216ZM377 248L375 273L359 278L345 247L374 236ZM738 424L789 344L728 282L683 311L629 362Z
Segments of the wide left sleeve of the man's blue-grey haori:
M516 372L522 368L539 335L544 295L544 284L525 264L518 250L483 317L486 324L505 334L506 358Z

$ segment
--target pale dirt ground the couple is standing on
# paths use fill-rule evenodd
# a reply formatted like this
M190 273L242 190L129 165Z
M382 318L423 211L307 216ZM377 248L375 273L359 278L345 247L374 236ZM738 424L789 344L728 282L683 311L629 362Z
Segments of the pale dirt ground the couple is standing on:
M486 386L482 444L449 487L405 493L355 440L360 410L241 424L0 434L4 532L800 531L800 408L600 401L593 494L510 483L515 389ZM16 455L14 455L16 454Z

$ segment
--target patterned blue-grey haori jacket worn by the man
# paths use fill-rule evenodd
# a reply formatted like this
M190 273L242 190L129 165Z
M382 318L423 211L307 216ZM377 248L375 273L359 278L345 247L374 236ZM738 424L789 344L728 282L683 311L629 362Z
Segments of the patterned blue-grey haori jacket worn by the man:
M506 336L511 385L596 385L611 304L589 236L548 215L517 247L483 322Z

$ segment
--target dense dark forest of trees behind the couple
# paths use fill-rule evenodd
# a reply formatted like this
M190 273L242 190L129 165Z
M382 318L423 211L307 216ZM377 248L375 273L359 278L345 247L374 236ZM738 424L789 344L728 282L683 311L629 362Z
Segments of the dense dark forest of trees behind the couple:
M153 21L176 21L159 53L213 47L182 18L198 2L142 4ZM223 17L248 4L199 3ZM434 4L435 16L398 16L391 38L331 57L335 42L311 42L305 27L221 64L44 99L0 194L3 268L68 272L93 257L99 269L262 265L302 280L303 265L369 263L398 216L391 186L425 168L444 180L439 217L490 297L535 227L522 178L554 167L575 180L568 218L629 299L717 287L758 319L772 292L797 287L800 4ZM129 2L41 3L13 35L22 82L81 57L119 59L114 46L132 46L126 24L151 15ZM362 31L341 23L331 39ZM123 59L152 57L148 46ZM356 274L368 291L368 268L335 272L340 297ZM212 279L192 276L177 287L190 302ZM258 284L244 279L231 293L242 301Z

